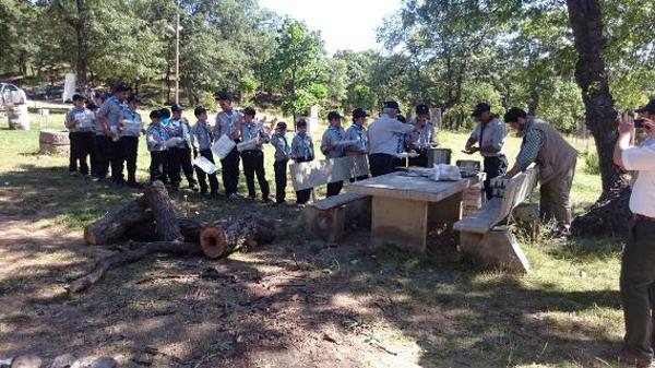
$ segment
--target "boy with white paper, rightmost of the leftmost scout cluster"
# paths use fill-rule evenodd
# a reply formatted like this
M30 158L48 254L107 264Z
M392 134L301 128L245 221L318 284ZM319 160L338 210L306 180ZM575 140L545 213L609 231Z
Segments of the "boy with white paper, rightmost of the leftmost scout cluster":
M136 112L141 99L135 95L128 97L128 108L120 114L120 164L118 173L119 180L122 181L123 163L128 166L128 187L142 188L136 182L136 153L139 151L139 135L143 129L141 115Z

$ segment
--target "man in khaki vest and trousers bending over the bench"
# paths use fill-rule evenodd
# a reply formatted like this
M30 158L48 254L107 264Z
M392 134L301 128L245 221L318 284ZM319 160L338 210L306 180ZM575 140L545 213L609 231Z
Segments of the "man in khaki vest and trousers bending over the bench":
M536 163L541 183L540 216L546 222L555 217L556 235L568 235L571 226L571 186L577 152L555 127L541 119L528 117L517 107L512 107L505 114L504 121L523 135L516 163L504 178L512 178Z

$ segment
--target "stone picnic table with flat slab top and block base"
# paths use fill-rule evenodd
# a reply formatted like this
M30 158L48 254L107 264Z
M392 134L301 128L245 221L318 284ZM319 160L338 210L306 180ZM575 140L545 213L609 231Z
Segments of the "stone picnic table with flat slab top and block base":
M371 195L371 244L426 251L427 235L436 224L462 218L463 192L484 174L457 181L434 181L396 171L355 181L348 191Z

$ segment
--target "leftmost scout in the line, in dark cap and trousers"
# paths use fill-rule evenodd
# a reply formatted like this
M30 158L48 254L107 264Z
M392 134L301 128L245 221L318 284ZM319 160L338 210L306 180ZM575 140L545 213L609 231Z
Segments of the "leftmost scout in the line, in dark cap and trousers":
M95 144L95 134L93 132L93 112L84 106L84 96L73 95L73 106L66 114L64 124L69 130L69 140L71 141L69 175L78 176L78 162L80 162L80 173L83 176L88 175L88 164L86 156L93 152Z

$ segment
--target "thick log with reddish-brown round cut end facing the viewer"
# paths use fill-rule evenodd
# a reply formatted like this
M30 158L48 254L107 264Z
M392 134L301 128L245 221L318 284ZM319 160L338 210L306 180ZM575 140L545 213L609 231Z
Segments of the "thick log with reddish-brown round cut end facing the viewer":
M274 239L275 224L257 213L219 219L200 232L202 251L212 259L269 244Z

